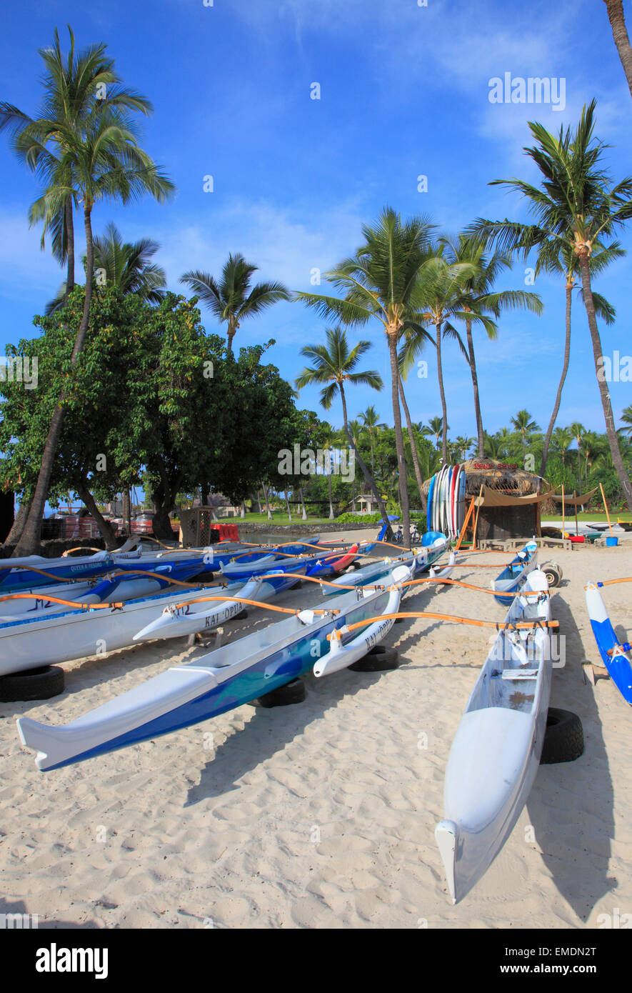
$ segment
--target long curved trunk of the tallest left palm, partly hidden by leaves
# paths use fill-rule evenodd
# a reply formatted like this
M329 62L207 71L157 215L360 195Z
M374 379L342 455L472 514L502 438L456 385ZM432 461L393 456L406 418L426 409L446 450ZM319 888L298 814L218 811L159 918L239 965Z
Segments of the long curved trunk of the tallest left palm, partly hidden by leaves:
M90 223L91 210L92 208L89 204L85 205L83 208L83 222L85 225L85 248L86 248L85 298L83 301L83 314L81 315L79 330L76 333L76 338L74 339L74 348L72 349L72 355L70 356L71 365L76 365L77 358L81 353L81 349L83 348L83 341L85 339L85 333L87 331L88 318L90 316L90 300L92 297L92 269L94 267L92 225ZM42 453L42 464L40 466L38 482L35 488L35 493L33 495L33 503L31 504L31 510L29 512L29 517L27 519L27 522L24 525L24 530L13 553L14 557L19 557L22 555L33 555L40 542L40 534L42 533L42 515L44 513L46 498L49 495L49 485L51 483L51 476L53 473L53 463L55 462L55 454L57 452L60 436L62 434L63 414L64 414L63 400L64 400L64 394L62 394L62 396L60 397L58 405L56 406L55 411L53 413L53 418L51 420L51 427L49 428L49 434L47 436L46 443L44 446L44 452Z

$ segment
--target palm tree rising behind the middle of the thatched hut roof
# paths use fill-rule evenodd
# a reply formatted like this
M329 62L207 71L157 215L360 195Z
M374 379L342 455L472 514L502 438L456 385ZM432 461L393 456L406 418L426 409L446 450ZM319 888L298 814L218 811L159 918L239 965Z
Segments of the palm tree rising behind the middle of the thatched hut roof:
M525 290L493 292L493 286L498 277L505 269L510 269L512 266L511 256L508 253L494 252L492 255L485 255L484 247L480 240L467 233L459 234L456 241L449 238L442 238L441 241L446 245L448 258L452 262L469 262L474 266L474 272L467 278L463 287L470 298L463 303L462 307L466 315L464 322L467 348L462 344L460 338L458 341L472 377L478 455L482 458L485 454L485 443L483 422L480 414L476 356L474 355L474 340L472 337L472 315L475 314L479 318L490 316L491 318L498 319L503 312L516 310L519 307L529 310L534 314L541 314L543 305L536 293L528 293ZM497 329L493 321L481 320L480 323L487 332L487 337L492 340L495 339Z

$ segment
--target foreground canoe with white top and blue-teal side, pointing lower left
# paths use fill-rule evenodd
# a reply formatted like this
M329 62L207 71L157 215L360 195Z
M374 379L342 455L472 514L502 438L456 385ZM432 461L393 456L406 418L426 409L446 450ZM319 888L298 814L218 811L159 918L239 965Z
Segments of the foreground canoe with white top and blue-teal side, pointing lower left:
M303 610L187 665L174 666L61 727L23 717L18 721L20 738L37 751L40 770L60 769L216 717L310 669L317 667L324 675L331 650L334 656L342 653L336 661L350 664L384 637L388 629L371 619L397 610L398 587L410 575L408 568L395 569L388 587L353 590L328 602L324 610ZM371 620L364 634L356 637L346 630L363 620ZM338 635L340 643L334 647Z

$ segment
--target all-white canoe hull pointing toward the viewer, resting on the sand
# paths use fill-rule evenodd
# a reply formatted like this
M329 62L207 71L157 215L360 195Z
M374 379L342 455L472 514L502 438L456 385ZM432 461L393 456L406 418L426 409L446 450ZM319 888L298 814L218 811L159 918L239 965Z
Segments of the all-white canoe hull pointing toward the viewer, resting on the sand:
M527 597L537 591L538 596ZM547 577L533 570L510 607L467 701L452 742L444 819L436 838L452 903L487 871L511 834L540 764L551 692Z

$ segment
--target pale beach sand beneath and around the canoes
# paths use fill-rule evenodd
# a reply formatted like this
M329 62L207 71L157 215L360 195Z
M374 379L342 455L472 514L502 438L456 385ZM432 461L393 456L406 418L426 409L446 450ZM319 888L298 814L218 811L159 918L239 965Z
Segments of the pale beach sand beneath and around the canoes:
M630 547L541 552L565 572L553 613L567 664L554 673L552 703L580 715L585 753L540 769L502 853L457 907L434 829L490 632L406 621L386 642L401 653L395 671L309 676L303 704L241 707L57 772L38 772L16 717L65 723L207 648L155 641L68 663L62 696L0 704L0 913L37 914L41 927L520 928L596 927L601 914L629 912L632 712L609 680L584 683L580 660L598 657L583 583L629 575ZM488 585L493 575L453 577ZM276 603L316 598L304 588ZM630 587L605 598L615 626L630 625ZM457 587L406 601L425 608L505 614L493 597ZM253 610L225 638L277 618Z

